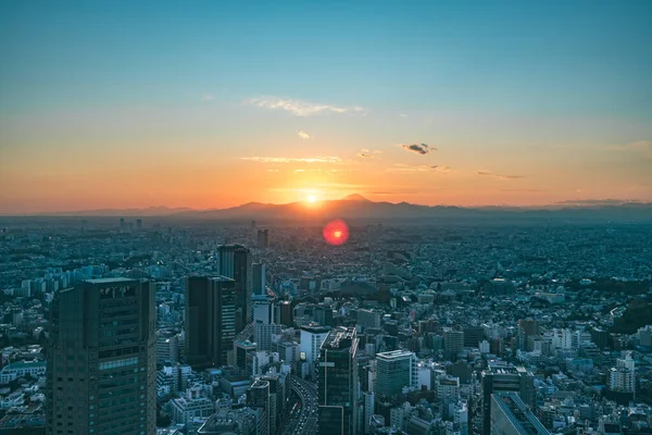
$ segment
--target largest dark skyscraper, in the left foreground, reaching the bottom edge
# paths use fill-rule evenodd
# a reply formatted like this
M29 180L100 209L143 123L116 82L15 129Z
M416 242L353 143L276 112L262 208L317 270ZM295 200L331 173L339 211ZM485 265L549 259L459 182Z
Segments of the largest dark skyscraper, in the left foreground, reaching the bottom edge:
M154 288L89 279L51 304L47 433L156 432Z

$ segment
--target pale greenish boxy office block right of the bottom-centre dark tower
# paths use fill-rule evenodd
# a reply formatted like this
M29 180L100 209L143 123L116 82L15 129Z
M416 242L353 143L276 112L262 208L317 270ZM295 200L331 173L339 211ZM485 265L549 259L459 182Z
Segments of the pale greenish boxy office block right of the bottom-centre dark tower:
M416 357L405 350L376 353L376 386L378 398L400 394L403 387L416 386Z

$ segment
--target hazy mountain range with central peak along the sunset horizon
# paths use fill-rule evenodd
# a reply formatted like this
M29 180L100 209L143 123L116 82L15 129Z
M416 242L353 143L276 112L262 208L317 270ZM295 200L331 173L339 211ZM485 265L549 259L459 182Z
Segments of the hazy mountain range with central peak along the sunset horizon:
M168 219L218 221L315 221L335 217L355 221L616 221L652 222L652 203L622 202L616 200L564 202L540 208L419 206L409 202L376 202L353 194L338 200L315 203L290 202L284 204L248 202L227 209L196 210L190 208L150 207L146 209L104 209L59 213L37 213L40 216L159 216Z

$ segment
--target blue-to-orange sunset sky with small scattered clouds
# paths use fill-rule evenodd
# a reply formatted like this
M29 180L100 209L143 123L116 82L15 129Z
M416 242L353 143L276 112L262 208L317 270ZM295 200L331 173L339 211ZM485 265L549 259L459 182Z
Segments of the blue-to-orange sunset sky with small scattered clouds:
M651 1L0 2L0 213L652 201Z

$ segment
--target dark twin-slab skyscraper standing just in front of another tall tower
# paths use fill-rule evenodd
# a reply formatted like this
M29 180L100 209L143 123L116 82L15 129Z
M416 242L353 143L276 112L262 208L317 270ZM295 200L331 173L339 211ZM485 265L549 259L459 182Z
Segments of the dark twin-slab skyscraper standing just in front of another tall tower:
M186 358L193 366L226 365L236 336L236 282L186 278Z

